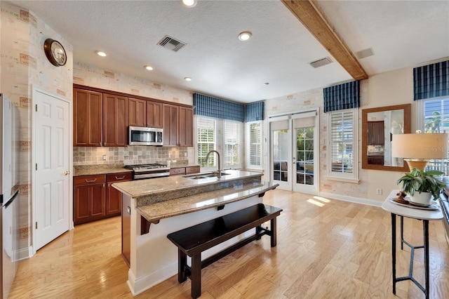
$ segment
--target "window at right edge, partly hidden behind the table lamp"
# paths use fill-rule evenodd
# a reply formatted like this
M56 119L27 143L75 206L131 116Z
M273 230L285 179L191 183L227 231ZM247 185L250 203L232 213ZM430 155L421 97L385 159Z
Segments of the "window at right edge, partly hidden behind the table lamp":
M422 133L449 133L449 98L420 100L418 127ZM433 160L427 164L427 171L443 171L449 175L449 160Z

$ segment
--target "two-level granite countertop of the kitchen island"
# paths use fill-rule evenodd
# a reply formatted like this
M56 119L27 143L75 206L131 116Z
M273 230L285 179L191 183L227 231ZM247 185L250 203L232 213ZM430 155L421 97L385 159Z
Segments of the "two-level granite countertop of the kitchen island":
M149 222L201 211L247 199L278 184L260 180L262 173L226 170L221 178L176 175L166 178L116 182L112 186L136 199L136 210Z

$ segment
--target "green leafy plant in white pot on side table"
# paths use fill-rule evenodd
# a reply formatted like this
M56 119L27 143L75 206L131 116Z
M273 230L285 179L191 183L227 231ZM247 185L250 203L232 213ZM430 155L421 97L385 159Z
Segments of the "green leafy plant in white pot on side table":
M410 201L417 204L430 204L431 196L438 199L441 190L446 185L438 178L441 171L422 171L420 168L413 168L410 173L398 179L397 184L402 182L402 191L410 194Z

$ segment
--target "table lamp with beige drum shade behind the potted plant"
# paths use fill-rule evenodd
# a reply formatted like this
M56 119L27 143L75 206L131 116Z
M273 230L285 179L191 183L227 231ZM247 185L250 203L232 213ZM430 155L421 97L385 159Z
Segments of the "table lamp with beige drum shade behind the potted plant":
M394 134L391 156L404 158L410 172L413 168L424 171L429 159L448 159L447 133Z

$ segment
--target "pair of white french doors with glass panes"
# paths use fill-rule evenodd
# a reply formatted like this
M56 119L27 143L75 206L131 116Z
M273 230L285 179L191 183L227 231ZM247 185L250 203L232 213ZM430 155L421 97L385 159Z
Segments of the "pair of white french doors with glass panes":
M271 178L283 190L318 193L317 111L271 117Z

